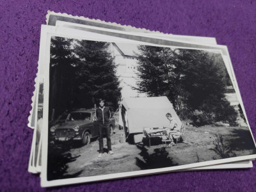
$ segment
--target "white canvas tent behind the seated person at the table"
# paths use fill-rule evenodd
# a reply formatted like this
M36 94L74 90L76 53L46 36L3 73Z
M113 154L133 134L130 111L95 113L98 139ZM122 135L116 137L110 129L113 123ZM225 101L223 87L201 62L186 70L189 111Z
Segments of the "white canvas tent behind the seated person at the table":
M143 132L143 127L169 127L166 113L171 113L181 125L179 116L167 97L126 97L121 105L119 124L127 127L129 134Z

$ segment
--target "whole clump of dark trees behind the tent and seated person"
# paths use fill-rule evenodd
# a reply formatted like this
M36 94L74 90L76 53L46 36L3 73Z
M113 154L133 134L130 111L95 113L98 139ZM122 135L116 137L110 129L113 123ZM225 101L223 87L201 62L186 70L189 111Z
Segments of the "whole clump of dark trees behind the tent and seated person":
M201 115L205 122L236 120L236 111L225 99L230 84L220 56L207 51L139 45L138 91L165 95L182 118Z

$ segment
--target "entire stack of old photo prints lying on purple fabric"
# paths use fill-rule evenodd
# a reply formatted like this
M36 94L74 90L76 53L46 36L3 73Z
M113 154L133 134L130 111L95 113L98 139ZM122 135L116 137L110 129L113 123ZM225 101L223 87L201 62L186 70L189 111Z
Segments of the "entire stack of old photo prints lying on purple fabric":
M215 38L48 12L29 127L42 187L250 168L255 141Z

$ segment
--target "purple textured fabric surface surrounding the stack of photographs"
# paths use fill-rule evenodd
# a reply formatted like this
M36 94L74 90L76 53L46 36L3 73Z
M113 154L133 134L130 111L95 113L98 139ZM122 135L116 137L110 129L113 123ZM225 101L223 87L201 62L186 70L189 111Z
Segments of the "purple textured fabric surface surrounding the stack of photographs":
M27 127L47 10L177 35L214 36L228 45L244 106L256 135L256 2L0 0L0 189L3 191L256 191L256 168L164 173L40 188L27 172L33 130ZM254 163L256 166L256 163Z

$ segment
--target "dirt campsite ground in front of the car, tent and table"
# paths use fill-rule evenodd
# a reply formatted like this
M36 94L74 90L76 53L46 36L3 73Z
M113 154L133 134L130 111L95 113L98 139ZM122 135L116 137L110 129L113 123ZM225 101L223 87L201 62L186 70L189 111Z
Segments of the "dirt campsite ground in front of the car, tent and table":
M105 152L98 159L98 140L93 140L90 145L83 147L74 145L63 154L68 154L72 160L65 163L65 171L58 175L58 178L131 172L220 159L221 157L211 150L214 148L212 142L216 133L223 135L225 145L232 148L236 156L255 153L247 127L188 126L184 132L184 143L177 143L173 147L166 147L159 138L152 141L151 147L147 146L147 140L138 145L120 143L120 134L124 131L119 129L115 131L111 136L113 155ZM107 148L106 139L104 139L104 148Z

